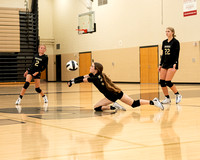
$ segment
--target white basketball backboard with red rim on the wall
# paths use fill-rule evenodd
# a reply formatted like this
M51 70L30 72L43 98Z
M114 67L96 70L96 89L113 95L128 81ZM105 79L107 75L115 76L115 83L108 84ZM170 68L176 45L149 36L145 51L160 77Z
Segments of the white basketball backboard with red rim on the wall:
M85 32L84 30L87 30ZM84 32L82 32L84 31ZM95 12L90 11L78 15L78 33L87 34L96 32Z

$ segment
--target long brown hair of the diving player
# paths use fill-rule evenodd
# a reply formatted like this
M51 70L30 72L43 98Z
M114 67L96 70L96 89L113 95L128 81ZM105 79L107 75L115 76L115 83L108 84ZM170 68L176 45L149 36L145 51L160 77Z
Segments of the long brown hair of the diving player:
M111 91L111 92L118 92L120 93L121 92L121 89L118 88L112 81L110 78L108 78L108 76L103 73L103 65L98 63L98 62L94 62L94 67L95 69L97 70L97 74L101 75L104 82L105 82L105 85L106 85L106 88Z

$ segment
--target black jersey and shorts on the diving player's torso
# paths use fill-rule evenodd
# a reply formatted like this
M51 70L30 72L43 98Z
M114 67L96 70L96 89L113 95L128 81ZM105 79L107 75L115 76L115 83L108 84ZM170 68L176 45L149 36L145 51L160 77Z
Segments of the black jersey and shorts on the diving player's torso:
M103 77L99 74L93 75L92 73L89 74L89 78L87 78L88 82L92 82L97 89L109 100L115 102L117 99L121 99L123 96L123 92L112 92L106 88L105 82Z

